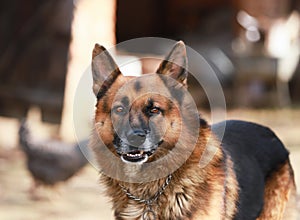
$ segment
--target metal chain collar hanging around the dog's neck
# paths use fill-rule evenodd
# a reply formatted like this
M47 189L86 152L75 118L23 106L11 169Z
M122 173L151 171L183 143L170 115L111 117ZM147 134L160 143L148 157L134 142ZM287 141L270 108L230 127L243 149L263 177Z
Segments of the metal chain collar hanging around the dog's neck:
M120 185L122 191L127 195L127 197L129 199L132 199L132 200L134 200L138 203L144 203L146 205L146 209L145 209L145 211L143 212L143 215L142 215L143 220L146 220L146 219L155 220L157 216L156 216L155 212L152 209L152 205L164 193L165 189L167 188L167 186L171 182L171 179L172 179L172 175L169 174L169 176L167 177L167 179L164 182L164 184L162 185L162 187L154 194L154 196L150 197L149 199L139 198L139 197L131 194L129 192L129 189L126 189L125 186L122 186L121 184L119 184L119 185ZM152 218L149 217L149 216L152 216Z

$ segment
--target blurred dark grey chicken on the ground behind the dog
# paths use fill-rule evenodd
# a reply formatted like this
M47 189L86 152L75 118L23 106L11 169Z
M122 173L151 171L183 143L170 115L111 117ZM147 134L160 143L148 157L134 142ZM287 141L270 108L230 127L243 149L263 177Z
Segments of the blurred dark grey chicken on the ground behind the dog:
M88 140L78 144L52 139L36 140L23 121L19 129L19 141L34 180L34 186L30 190L33 198L38 186L54 186L58 182L66 181L87 164L80 146L86 148Z

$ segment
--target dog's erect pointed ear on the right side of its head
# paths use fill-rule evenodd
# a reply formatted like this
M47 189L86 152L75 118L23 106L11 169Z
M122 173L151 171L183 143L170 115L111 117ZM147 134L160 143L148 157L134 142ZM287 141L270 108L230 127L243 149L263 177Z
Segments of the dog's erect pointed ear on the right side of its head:
M161 62L157 73L171 76L186 86L187 75L187 56L185 44L178 41L169 55Z

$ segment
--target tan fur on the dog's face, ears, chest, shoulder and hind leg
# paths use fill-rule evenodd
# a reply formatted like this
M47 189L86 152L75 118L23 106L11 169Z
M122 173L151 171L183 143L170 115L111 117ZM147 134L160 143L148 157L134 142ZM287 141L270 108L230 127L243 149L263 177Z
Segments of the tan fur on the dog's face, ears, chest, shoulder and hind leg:
M104 60L97 60L98 54L103 52L106 53ZM197 129L198 137L194 136L194 131L181 115L183 111L188 110L187 106L189 106L186 93L182 93L180 100L173 99L172 92L166 88L166 85L171 85L174 90L185 89L186 73L180 66L180 64L186 64L185 56L184 44L178 43L168 56L172 62L179 62L178 65L163 61L158 69L158 73L168 74L176 79L179 82L176 84L166 82L158 74L140 78L125 77L119 72L103 47L96 45L93 51L94 92L98 102L95 129L90 145L99 163L100 180L106 187L106 194L112 200L116 219L140 220L144 211L149 208L144 203L128 198L122 187L138 198L149 199L161 189L167 177L139 182L135 179L136 176L143 178L147 178L149 174L159 176L164 170L170 170L178 164L180 167L172 172L170 184L151 206L159 220L229 220L233 219L239 211L241 189L231 157L223 154L220 141L214 136L206 122L201 124L200 129ZM104 76L99 76L100 72L103 74L103 71ZM123 86L126 85L124 89ZM153 87L155 92L149 92L153 91ZM132 114L130 122L133 125L138 125L142 120L148 120L141 109L145 107L149 99L155 100L154 104L164 109L163 118L159 115L151 119L151 123L155 124L164 141L147 161L150 163L169 156L171 151L172 156L168 161L162 162L160 167L147 169L147 166L128 164L120 160L113 144L114 125L121 125L121 128L125 128L125 125L122 127L122 123L129 121L129 113L120 116L111 111L114 100L120 102L122 96L123 98L126 96L130 102L130 114ZM180 136L183 137L184 144L179 144L177 151L173 152ZM196 143L193 143L193 139ZM190 146L194 148L190 149ZM183 152L189 150L191 154L188 158L184 158ZM183 159L184 163L181 164ZM106 173L113 173L119 178L112 178ZM122 181L124 176L130 181ZM290 213L286 211L284 214L284 210L286 207L292 207L292 204L287 204L287 201L294 195L294 190L293 173L289 162L286 162L267 179L265 205L258 220L289 219Z

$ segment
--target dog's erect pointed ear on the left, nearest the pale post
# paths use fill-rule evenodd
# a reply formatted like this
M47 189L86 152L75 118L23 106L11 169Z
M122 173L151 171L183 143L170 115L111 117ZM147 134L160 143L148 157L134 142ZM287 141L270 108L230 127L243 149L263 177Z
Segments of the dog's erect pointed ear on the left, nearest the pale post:
M92 59L93 91L99 98L121 74L109 52L95 44Z

